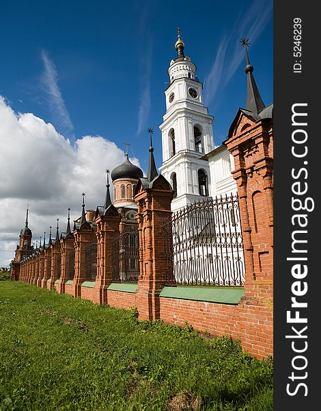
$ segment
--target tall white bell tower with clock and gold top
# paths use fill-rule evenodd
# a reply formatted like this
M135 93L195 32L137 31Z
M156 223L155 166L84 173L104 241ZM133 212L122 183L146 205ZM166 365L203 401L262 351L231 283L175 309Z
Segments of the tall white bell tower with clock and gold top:
M209 195L210 167L207 160L200 159L214 149L213 117L204 107L196 66L184 55L180 29L175 48L177 58L169 64L165 90L166 113L159 126L163 145L160 170L176 192L172 211Z

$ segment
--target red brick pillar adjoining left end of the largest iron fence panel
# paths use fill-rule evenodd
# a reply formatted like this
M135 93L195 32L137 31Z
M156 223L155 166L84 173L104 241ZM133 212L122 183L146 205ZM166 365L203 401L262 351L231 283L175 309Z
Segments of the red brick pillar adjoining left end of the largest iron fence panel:
M139 180L135 195L139 224L137 308L140 319L155 320L160 318L159 294L165 285L162 227L171 215L173 191L163 175L151 183L144 184L144 180Z

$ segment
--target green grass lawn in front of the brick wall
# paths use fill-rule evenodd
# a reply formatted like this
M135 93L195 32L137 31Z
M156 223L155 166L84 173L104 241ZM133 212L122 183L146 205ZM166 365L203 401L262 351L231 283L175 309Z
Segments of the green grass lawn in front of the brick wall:
M273 362L230 338L0 282L0 410L273 410Z

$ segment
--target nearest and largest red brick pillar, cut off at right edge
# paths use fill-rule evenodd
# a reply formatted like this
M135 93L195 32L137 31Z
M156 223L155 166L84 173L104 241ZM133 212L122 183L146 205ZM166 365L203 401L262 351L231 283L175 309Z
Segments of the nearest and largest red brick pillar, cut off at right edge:
M234 156L245 251L241 340L264 357L273 353L273 119L239 110L224 143Z

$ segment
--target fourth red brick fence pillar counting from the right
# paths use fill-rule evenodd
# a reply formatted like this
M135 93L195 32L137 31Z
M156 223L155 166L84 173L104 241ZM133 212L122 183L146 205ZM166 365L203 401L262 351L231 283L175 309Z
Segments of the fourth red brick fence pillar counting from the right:
M96 242L94 229L85 222L74 231L74 282L72 295L81 297L81 284L85 281L85 249Z

